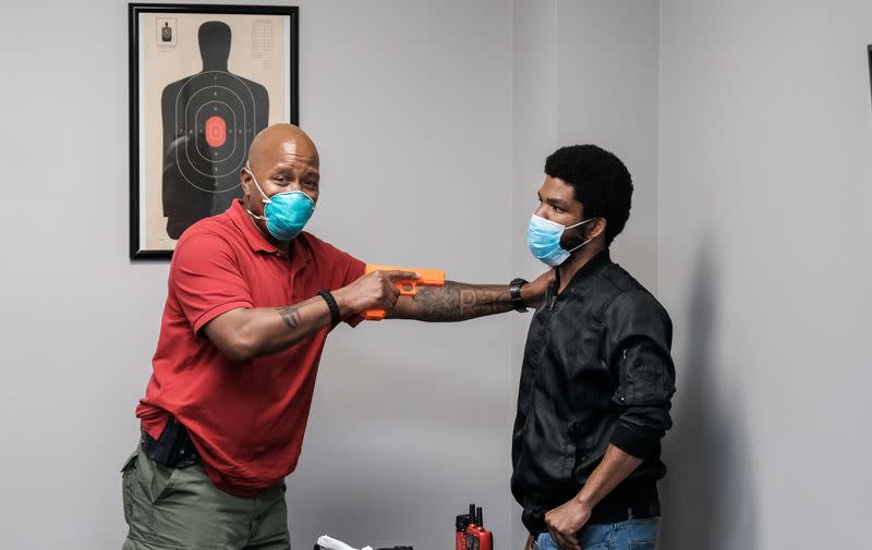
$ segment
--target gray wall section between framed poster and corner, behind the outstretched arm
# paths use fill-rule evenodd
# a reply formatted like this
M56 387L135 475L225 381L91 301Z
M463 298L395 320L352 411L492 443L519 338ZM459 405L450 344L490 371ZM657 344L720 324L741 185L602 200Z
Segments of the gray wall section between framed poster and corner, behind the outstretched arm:
M511 278L510 17L502 1L301 8L316 234L366 261ZM325 533L448 548L473 500L498 537L508 530L508 328L504 316L332 335L288 480L298 548Z

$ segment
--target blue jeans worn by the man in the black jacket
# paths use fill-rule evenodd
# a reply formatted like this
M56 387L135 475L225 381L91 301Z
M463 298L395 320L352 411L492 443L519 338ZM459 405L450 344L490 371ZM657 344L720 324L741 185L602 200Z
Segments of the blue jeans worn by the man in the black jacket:
M582 550L654 550L658 525L658 517L585 525L578 537ZM533 542L533 550L560 550L560 547L549 534L543 533Z

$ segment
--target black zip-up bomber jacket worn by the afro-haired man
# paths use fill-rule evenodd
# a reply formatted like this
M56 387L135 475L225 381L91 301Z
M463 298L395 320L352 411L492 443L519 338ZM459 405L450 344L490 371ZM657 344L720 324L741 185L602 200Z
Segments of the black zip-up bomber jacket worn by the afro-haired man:
M644 462L597 509L656 503L666 474L659 442L671 427L673 328L663 306L608 250L559 295L558 285L530 325L512 435L511 488L531 533L581 490L609 443Z

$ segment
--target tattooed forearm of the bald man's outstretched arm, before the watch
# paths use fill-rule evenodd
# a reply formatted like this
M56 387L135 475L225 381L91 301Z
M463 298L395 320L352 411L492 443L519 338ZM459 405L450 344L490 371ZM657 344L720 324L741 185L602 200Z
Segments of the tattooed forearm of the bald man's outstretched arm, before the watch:
M511 309L509 288L446 281L445 286L419 286L410 317L422 321L461 321Z

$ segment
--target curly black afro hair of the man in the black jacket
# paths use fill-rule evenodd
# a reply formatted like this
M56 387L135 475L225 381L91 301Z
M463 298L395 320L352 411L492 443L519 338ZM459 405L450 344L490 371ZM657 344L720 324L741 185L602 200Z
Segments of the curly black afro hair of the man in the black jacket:
M606 246L630 218L633 182L613 152L595 145L560 147L545 160L545 173L572 185L585 218L605 218Z

